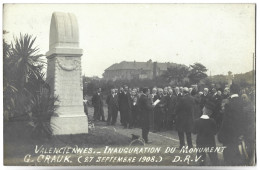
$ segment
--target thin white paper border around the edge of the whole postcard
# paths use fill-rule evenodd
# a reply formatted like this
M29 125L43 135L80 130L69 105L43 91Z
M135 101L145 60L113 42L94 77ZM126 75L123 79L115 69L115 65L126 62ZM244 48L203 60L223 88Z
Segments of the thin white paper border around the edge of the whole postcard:
M2 8L0 9L0 15L1 15L1 20L3 18L3 4L4 3L209 3L209 4L212 4L212 3L256 3L256 56L258 54L258 51L259 51L259 45L258 45L258 41L259 41L259 33L258 33L258 28L259 28L259 14L258 14L258 5L259 3L257 3L257 1L251 1L251 0L200 0L200 1L192 1L192 0L73 0L73 1L69 1L69 0L66 0L66 1L59 1L59 0L44 0L44 1L33 1L33 0L1 0L1 4L2 4ZM3 21L1 22L3 24ZM1 52L3 51L2 49L2 41L1 41ZM0 79L1 79L1 85L0 85L0 90L2 91L3 90L3 83L2 83L2 80L3 80L3 60L1 59L0 60L0 68L1 68L1 76L0 76ZM259 60L256 59L256 65L259 65ZM259 75L260 75L260 72L259 72L259 69L256 69L256 101L258 102L259 100ZM3 94L1 93L1 108L3 108ZM256 102L256 103L257 103ZM2 109L3 110L3 109ZM259 126L260 126L260 122L259 122L259 109L256 108L257 110L257 113L256 113L256 141L257 141L257 158L259 158L259 153L260 153L260 150L259 150ZM3 117L2 117L3 118ZM3 137L3 121L0 121L1 123L1 127L2 127L2 130L1 130L1 136ZM129 167L129 166L126 166L126 167L118 167L118 166L114 166L114 167L87 167L87 166L83 166L83 167L15 167L15 166L3 166L3 140L1 140L1 144L0 144L0 151L2 154L0 154L0 168L1 169L133 169L133 167ZM160 168L160 169L258 169L260 166L259 166L259 159L257 159L257 164L255 167L137 167L136 169L157 169L157 168Z

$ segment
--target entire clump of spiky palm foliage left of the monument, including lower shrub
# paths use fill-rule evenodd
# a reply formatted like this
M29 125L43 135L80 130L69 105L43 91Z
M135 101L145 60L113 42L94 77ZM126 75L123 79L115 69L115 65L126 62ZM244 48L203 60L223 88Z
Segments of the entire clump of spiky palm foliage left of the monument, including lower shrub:
M25 34L10 45L3 41L4 55L4 115L5 119L26 119L32 126L32 136L52 135L51 116L57 97L50 95L44 80L42 54L34 47L36 37Z

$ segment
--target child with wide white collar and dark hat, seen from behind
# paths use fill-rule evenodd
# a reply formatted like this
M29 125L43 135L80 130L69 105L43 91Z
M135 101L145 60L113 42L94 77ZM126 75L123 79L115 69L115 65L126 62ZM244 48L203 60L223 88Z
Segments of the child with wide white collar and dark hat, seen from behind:
M197 134L196 147L216 147L215 135L217 134L217 125L214 119L210 118L213 110L215 109L215 104L208 101L204 108L203 114L199 119L196 119L193 126L193 133ZM198 152L199 165L204 166L206 163L206 153ZM218 165L218 154L217 152L208 152L211 164Z

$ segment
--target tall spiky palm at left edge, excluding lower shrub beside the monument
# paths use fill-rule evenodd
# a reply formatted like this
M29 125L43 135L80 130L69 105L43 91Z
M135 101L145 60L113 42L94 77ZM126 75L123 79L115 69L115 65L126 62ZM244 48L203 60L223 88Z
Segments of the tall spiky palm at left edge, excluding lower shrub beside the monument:
M33 90L27 86L29 79L41 78L44 66L42 54L34 47L36 37L20 35L11 44L3 41L3 99L4 118L24 118L33 105Z

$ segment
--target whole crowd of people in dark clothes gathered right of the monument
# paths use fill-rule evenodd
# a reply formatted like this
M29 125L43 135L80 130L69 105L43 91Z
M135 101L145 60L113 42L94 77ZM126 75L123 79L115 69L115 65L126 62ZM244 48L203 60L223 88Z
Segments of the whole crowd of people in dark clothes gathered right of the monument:
M185 146L185 135L188 148L193 147L192 133L197 134L197 147L216 147L217 135L226 147L225 165L244 165L254 156L255 103L252 96L236 84L223 91L216 88L198 91L197 86L139 89L125 85L111 89L106 99L98 88L92 97L93 119L115 125L119 112L123 128L142 128L146 143L149 143L150 129L154 132L175 129L180 149ZM103 101L108 107L107 119ZM239 149L241 142L246 143L247 151ZM206 154L200 154L200 165L204 165ZM209 157L213 165L218 164L217 153L209 153Z

